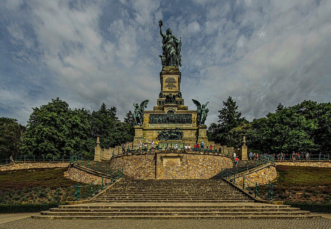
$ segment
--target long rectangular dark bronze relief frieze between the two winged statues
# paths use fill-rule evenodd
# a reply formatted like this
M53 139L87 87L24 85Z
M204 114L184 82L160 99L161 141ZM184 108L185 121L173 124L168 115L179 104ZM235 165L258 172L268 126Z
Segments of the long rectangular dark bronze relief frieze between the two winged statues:
M149 124L187 124L192 123L192 114L150 114Z

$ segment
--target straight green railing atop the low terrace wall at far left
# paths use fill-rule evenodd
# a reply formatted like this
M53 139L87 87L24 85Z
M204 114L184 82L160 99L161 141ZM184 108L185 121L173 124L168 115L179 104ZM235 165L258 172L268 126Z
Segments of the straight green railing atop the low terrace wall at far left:
M72 156L15 156L13 157L13 161L16 163L19 162L69 162ZM10 164L13 163L9 158L0 160L0 164Z

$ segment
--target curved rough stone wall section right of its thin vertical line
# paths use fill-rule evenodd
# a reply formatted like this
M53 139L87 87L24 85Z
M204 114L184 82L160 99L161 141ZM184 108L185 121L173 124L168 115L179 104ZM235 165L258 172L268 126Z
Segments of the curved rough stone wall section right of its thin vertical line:
M230 158L201 155L183 154L180 167L164 167L161 157L157 159L157 179L209 179L220 173L221 169L232 167Z

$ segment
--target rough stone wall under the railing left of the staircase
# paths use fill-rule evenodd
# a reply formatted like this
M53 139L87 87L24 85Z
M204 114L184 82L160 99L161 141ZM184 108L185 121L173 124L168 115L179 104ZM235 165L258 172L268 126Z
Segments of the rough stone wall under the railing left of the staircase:
M96 176L94 174L79 170L75 167L70 167L68 171L64 172L64 176L68 177L71 180L77 181L79 183L87 183L90 184L92 182L96 182L101 178L101 176ZM110 179L104 179L104 183L110 182ZM102 180L98 181L97 184L101 185Z

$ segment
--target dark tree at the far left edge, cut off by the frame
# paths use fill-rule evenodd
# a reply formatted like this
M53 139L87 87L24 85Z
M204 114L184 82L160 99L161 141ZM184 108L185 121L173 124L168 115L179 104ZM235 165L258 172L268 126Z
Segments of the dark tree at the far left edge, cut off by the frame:
M21 136L25 126L17 119L0 117L0 160L20 156Z

